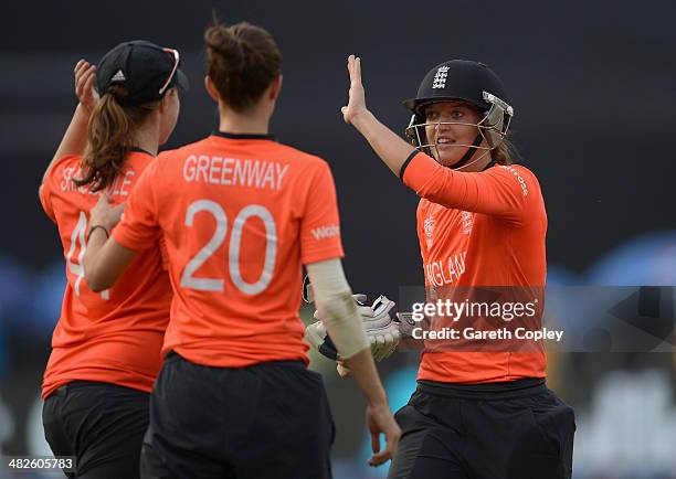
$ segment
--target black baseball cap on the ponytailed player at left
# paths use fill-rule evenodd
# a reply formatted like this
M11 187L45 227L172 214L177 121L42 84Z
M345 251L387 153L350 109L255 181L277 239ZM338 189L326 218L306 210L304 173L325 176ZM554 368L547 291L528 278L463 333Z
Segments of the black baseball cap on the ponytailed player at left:
M188 91L188 77L179 70L178 50L145 40L124 42L106 53L96 68L96 91L104 95L113 85L123 85L129 94L116 96L123 106L156 102L178 86Z

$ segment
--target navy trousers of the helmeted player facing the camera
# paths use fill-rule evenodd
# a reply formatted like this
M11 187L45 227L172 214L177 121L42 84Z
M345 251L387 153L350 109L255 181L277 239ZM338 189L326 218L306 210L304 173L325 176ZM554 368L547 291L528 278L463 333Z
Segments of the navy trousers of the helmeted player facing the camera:
M570 479L573 409L543 380L420 382L388 479Z

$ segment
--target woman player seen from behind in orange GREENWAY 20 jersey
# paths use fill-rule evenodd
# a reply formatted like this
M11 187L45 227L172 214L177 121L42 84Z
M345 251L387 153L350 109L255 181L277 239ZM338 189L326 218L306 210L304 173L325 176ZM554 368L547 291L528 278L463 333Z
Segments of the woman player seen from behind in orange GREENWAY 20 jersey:
M175 296L141 476L330 477L334 426L321 379L306 369L298 317L303 264L338 351L357 370L371 464L382 464L400 433L340 266L330 170L268 134L282 87L273 38L249 23L216 23L205 43L219 130L162 152L109 238L109 206L99 201L92 211L85 277L94 290L158 238L167 245Z

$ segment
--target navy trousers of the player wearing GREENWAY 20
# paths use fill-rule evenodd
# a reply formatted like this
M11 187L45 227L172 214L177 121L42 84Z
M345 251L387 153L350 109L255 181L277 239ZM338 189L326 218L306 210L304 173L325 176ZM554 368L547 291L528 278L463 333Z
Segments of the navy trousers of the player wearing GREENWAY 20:
M300 361L210 368L168 354L150 400L142 478L329 479L334 423Z

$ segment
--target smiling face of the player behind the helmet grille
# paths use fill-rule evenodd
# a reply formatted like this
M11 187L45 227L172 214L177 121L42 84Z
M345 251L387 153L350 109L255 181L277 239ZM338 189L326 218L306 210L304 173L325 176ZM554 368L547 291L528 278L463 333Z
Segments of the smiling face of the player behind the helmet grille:
M439 102L425 107L425 135L436 161L444 167L453 167L467 152L479 134L475 125L482 120L482 113L464 102ZM458 123L467 125L444 125ZM486 146L482 141L480 146ZM475 155L482 150L475 149Z

